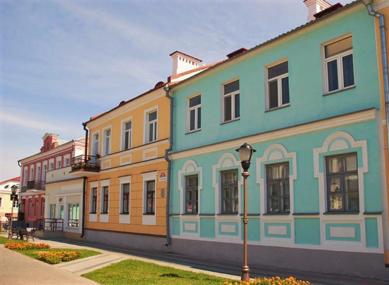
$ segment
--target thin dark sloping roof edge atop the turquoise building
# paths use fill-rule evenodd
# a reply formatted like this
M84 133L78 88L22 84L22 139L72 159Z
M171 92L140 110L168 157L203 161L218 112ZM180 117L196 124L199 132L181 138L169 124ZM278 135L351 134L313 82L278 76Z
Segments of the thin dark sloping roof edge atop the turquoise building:
M328 1L326 1L326 2L328 3ZM228 62L231 62L232 60L236 60L237 58L241 58L241 56L245 56L245 55L247 55L248 53L252 53L252 52L258 50L259 48L261 48L261 47L263 47L263 46L266 46L266 45L268 45L268 44L270 44L270 43L273 43L273 42L275 42L275 41L277 41L277 40L283 38L284 36L289 36L289 35L291 35L291 34L293 34L293 33L296 33L296 32L298 32L298 31L300 31L301 29L305 29L305 28L307 28L307 27L309 27L309 26L311 26L311 25L314 25L314 24L316 24L316 23L318 23L318 22L321 22L321 21L323 21L324 19L328 18L329 16L332 16L332 15L338 14L338 13L342 13L344 10L346 10L346 9L348 9L348 8L350 8L350 7L354 6L354 5L356 5L356 4L359 4L359 3L361 3L361 2L362 2L362 0L355 0L355 1L351 2L351 3L349 3L349 4L344 5L343 7L341 7L341 8L339 8L339 9L333 11L333 12L330 13L330 14L324 15L324 16L321 17L321 18L312 20L312 21L310 21L310 22L308 22L308 23L306 23L306 24L303 24L303 25L301 25L301 26L298 26L298 27L296 27L296 28L294 28L294 29L292 29L292 30L290 30L290 31L288 31L288 32L285 32L285 33L283 33L283 34L281 34L281 35L278 35L278 36L276 36L276 37L274 37L274 38L271 38L271 39L269 39L269 40L267 40L267 41L264 41L263 43L260 43L259 45L256 45L255 47L249 49L248 51L246 51L246 52L244 52L244 53L240 53L240 54L238 54L238 55L236 55L236 56L233 56L233 57L231 57L231 58L228 58L228 59L226 59L226 60L223 60L222 62L219 62L219 63L215 64L214 66L209 67L207 70L205 70L205 71L203 71L203 72L201 72L201 73L197 73L197 74L195 74L195 75L193 75L193 76L191 76L191 77L189 77L189 78L186 78L186 79L180 81L178 84L175 85L175 87L180 86L180 85L184 84L185 82L188 82L189 80L193 80L194 78L197 78L198 76L204 75L204 73L210 72L211 70L214 70L214 69L218 68L219 66L222 66L223 64L226 64L226 63L228 63ZM331 5L331 4L330 4L330 5Z

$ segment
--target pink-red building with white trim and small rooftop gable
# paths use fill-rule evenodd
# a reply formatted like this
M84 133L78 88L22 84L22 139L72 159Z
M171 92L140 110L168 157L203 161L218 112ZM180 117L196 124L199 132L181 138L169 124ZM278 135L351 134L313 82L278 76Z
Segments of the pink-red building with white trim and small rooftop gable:
M19 221L25 221L26 227L44 218L45 183L50 171L72 165L72 159L84 154L85 138L65 141L56 134L46 133L40 152L19 160L20 192Z

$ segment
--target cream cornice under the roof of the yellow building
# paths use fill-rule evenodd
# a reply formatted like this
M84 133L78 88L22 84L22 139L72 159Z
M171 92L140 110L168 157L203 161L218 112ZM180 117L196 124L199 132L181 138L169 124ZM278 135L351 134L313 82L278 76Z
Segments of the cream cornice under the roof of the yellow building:
M150 103L152 100L158 99L160 97L165 96L165 90L163 88L156 89L148 94L145 94L139 98L136 98L134 101L124 104L122 107L118 107L115 110L112 110L110 113L102 115L101 117L93 120L92 122L87 123L89 129L92 129L100 124L104 124L105 122L123 115L127 112L130 112L136 108L142 107L145 104ZM168 99L167 99L168 100ZM115 107L116 108L116 107Z

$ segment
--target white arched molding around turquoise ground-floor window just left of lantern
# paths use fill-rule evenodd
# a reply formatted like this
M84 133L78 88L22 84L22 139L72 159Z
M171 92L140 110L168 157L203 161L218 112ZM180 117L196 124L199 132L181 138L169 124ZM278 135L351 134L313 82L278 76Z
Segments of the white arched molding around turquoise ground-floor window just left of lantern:
M224 153L220 159L218 164L215 164L212 166L212 186L215 189L215 212L216 214L222 213L222 205L221 205L221 177L220 173L224 170L230 170L230 169L238 169L238 177L240 179L238 180L238 196L239 196L239 210L238 213L242 212L242 195L241 195L241 188L243 185L243 177L241 176L241 173L243 172L243 169L241 167L241 161L237 160L235 155L227 152Z

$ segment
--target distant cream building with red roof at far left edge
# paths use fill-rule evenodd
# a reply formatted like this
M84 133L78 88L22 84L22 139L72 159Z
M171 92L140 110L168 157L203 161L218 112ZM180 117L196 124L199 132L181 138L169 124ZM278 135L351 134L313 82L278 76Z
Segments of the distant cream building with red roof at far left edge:
M10 215L12 212L13 219L18 219L18 200L14 201L14 205L12 205L12 189L13 185L17 185L19 187L20 177L15 177L11 179L7 179L0 182L0 217L8 214ZM19 194L19 189L17 190L17 195ZM12 209L14 208L14 209Z

